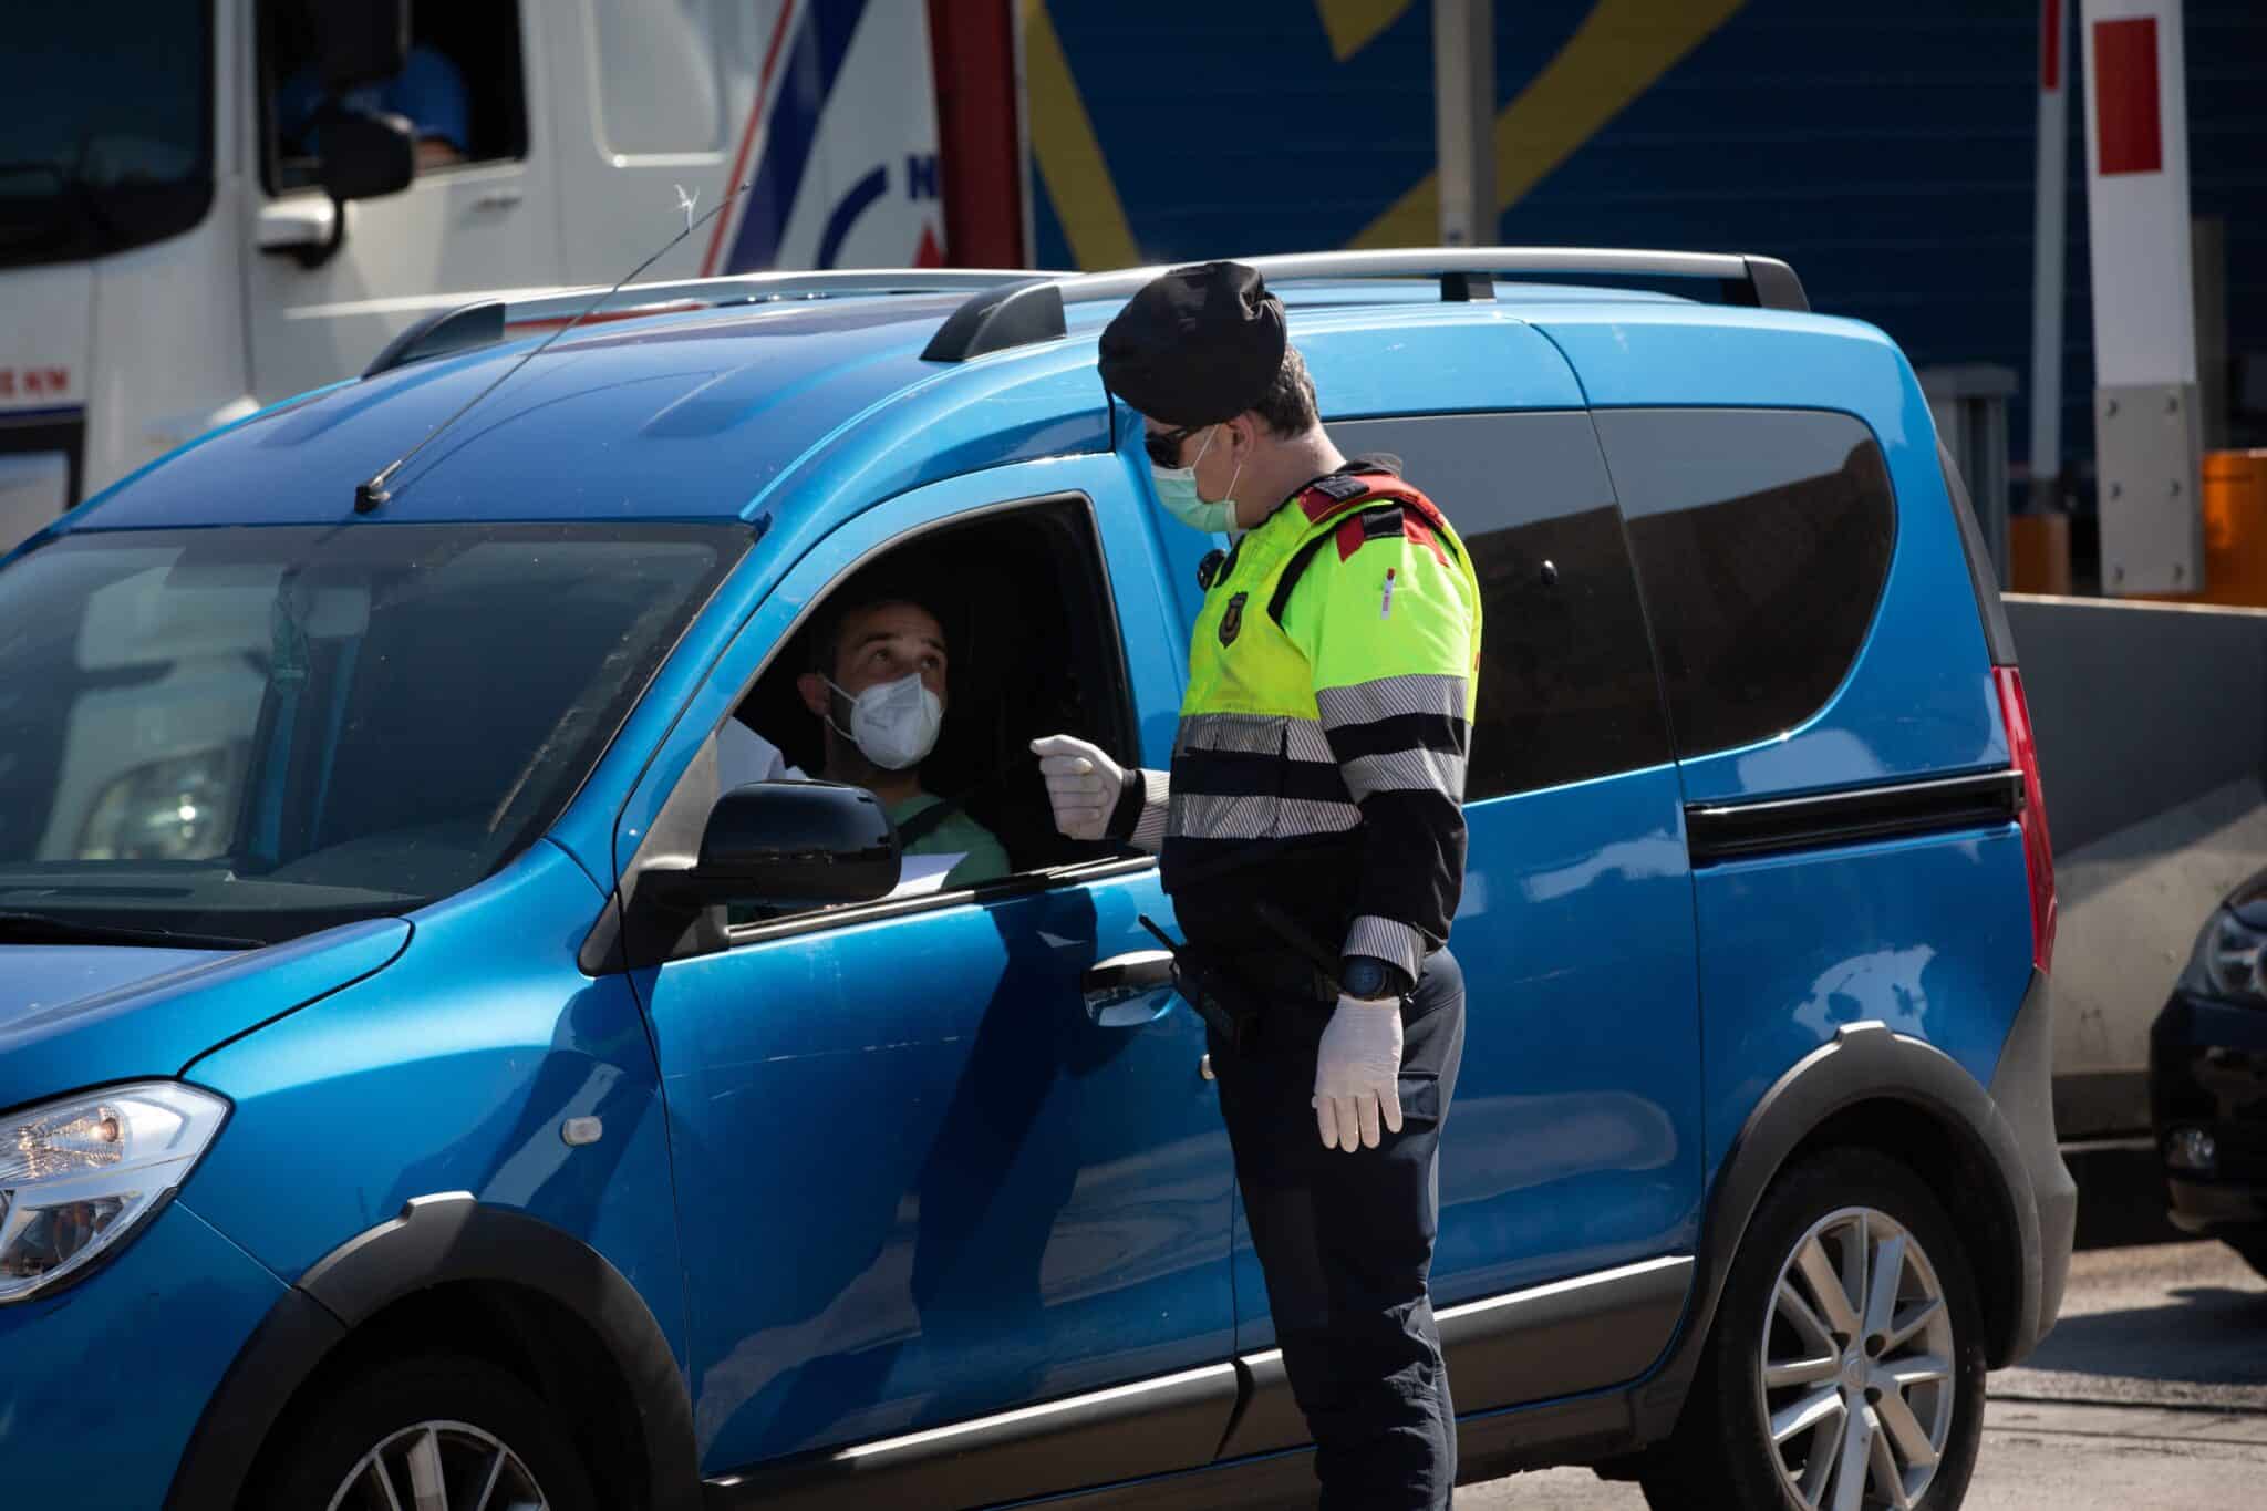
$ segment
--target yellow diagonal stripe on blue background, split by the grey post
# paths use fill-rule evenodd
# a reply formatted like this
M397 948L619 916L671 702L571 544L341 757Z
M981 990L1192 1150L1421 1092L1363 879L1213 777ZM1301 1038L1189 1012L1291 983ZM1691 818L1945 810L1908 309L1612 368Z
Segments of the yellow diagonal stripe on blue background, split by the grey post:
M1746 0L1598 0L1560 54L1496 116L1496 213L1519 204L1741 5ZM1435 240L1440 179L1426 174L1347 245L1430 247Z

